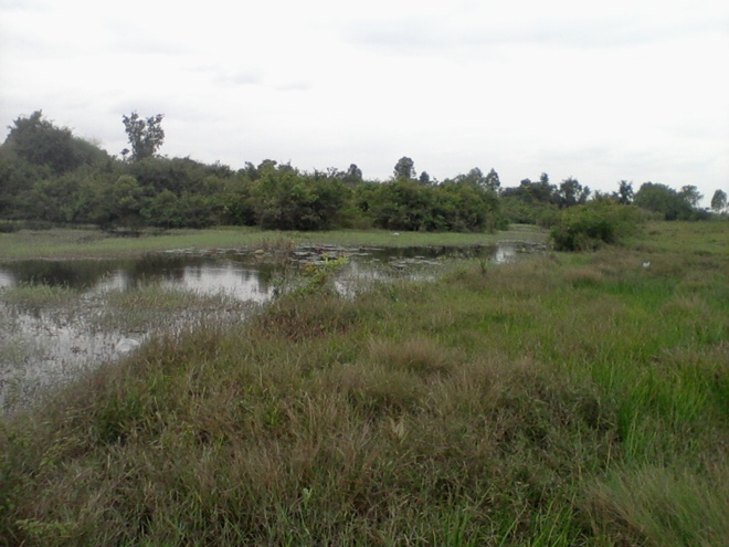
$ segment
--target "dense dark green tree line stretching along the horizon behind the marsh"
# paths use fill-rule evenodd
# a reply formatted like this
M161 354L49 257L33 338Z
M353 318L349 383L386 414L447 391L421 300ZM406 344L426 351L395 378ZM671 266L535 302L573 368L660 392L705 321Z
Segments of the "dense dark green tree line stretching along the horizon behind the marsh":
M300 171L265 160L232 170L157 155L162 115L123 117L131 150L106 151L35 112L20 116L0 146L0 219L97 224L105 229L260 225L279 230L382 228L398 231L485 231L510 222L552 225L560 211L591 197L635 204L667 220L700 217L696 187L674 191L647 182L633 194L621 181L612 196L592 196L577 179L552 185L525 179L501 188L498 173L473 168L443 181L402 157L390 180L345 170ZM719 191L718 191L719 192ZM723 210L726 194L712 206Z

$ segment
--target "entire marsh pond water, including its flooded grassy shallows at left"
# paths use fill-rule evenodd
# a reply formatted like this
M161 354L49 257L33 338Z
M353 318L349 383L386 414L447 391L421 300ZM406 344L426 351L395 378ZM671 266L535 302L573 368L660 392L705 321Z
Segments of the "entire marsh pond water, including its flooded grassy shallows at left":
M503 263L532 250L520 243L316 246L283 256L262 250L175 250L124 260L0 262L0 412L27 404L85 368L118 359L150 336L244 319L313 265L346 256L335 285L349 294L371 281L434 278L450 259ZM170 303L165 294L176 297Z

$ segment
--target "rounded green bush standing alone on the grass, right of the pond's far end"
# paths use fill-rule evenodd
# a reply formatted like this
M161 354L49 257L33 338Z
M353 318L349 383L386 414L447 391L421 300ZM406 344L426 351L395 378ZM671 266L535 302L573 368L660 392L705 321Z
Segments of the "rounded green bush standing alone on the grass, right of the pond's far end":
M550 230L557 251L589 251L635 233L641 214L632 206L592 201L564 209Z

